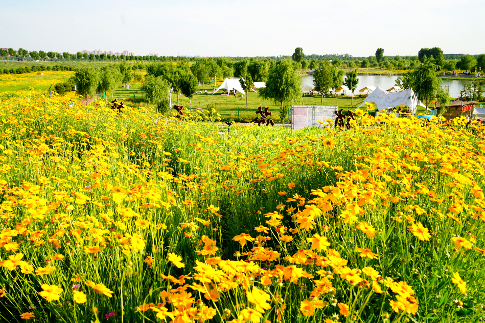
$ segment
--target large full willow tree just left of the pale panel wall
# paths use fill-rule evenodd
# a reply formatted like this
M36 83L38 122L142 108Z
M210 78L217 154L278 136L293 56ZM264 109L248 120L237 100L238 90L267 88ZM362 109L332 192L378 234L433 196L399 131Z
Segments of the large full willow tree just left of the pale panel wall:
M266 87L259 91L259 95L267 100L271 99L283 107L283 102L299 103L302 98L302 80L294 70L290 60L279 61L268 75Z

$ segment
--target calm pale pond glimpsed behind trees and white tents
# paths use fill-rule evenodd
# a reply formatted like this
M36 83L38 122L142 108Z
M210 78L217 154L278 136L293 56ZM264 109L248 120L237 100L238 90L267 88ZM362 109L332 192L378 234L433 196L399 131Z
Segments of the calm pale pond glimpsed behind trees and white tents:
M384 90L392 88L398 76L395 75L358 75L359 84L357 85L357 95L358 90L366 86L381 87ZM302 77L303 84L312 86L313 85L313 75L307 75ZM459 79L444 79L441 86L447 86L451 97L460 96L460 91L463 91L464 85L469 81L459 80ZM354 93L355 94L355 93Z

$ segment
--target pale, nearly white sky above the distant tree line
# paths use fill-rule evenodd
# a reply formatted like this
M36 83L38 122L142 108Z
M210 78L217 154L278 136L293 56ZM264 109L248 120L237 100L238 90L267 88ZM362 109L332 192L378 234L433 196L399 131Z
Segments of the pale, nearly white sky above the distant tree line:
M484 0L0 0L0 46L159 56L485 52Z

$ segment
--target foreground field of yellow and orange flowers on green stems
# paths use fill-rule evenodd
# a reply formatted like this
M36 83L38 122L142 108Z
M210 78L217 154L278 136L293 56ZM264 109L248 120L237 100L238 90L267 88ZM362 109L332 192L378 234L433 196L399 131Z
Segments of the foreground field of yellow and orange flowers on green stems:
M5 322L484 319L480 123L0 107Z

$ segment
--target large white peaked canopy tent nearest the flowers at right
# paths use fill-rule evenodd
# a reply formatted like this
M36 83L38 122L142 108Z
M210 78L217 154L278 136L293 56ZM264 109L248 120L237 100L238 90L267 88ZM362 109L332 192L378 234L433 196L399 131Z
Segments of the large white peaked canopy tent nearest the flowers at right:
M373 102L377 105L379 110L384 110L388 108L394 108L401 104L405 104L409 107L409 110L414 111L416 106L424 107L421 101L416 104L414 92L411 89L407 89L401 92L392 93L388 92L381 87L377 87L368 97L362 101L362 104L358 108L362 107L366 102Z

